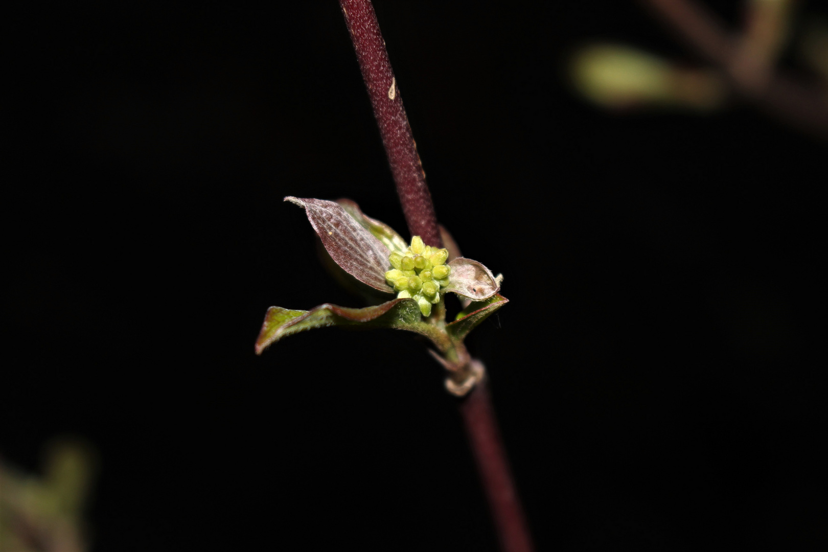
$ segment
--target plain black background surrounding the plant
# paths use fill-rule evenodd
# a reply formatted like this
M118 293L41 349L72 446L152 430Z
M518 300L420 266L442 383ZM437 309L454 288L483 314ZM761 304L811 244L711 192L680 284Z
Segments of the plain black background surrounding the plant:
M293 3L7 19L0 451L94 443L94 550L496 546L420 343L253 354L270 305L359 306L283 196L407 235L339 7ZM469 348L538 547L825 545L824 144L592 108L585 41L700 60L634 3L547 3L377 4L438 217L506 276Z

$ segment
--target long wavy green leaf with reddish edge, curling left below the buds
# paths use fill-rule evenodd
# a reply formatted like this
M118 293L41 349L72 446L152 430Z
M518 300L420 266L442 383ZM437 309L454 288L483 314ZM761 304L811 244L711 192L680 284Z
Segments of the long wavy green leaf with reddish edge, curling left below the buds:
M445 337L441 337L438 330L431 324L422 321L420 307L413 299L395 299L365 307L350 309L339 305L319 305L311 310L287 310L282 307L271 307L262 324L256 340L256 354L272 343L288 335L297 334L306 329L322 328L325 326L347 326L354 329L393 328L407 329L417 334L425 335L445 350Z

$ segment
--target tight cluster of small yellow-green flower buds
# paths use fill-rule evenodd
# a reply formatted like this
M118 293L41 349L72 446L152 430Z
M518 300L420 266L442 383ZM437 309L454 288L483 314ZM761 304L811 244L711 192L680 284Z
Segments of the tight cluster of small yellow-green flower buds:
M385 273L385 279L398 292L397 298L416 300L422 315L428 316L431 305L440 302L440 287L449 285L448 258L448 250L426 245L414 236L405 252L393 252L388 258L393 268Z

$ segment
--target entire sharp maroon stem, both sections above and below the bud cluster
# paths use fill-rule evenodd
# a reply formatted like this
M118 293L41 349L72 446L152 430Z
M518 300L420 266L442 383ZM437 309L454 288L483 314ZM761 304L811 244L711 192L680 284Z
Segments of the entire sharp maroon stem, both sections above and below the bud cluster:
M339 0L339 6L354 43L408 229L429 245L442 246L426 173L416 152L373 6L368 0ZM500 440L485 377L460 401L460 415L489 499L502 550L530 552L532 538Z

